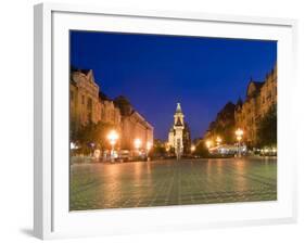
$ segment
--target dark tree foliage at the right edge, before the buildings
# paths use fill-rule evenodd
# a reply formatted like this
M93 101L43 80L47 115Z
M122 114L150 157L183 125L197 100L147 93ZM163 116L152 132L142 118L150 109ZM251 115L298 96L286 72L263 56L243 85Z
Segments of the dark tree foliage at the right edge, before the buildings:
M257 138L259 146L277 145L277 106L274 105L258 125Z

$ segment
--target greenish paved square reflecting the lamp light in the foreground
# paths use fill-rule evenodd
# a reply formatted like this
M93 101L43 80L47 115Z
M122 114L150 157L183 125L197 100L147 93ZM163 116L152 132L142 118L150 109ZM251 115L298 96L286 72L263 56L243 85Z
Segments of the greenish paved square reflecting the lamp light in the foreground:
M275 200L276 158L71 166L71 210Z

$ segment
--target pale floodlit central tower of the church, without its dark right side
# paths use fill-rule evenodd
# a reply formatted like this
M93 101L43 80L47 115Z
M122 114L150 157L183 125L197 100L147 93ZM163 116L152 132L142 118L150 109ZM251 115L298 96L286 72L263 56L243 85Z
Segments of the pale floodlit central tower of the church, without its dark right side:
M175 154L179 159L183 153L183 129L185 129L185 115L181 110L180 103L177 103L176 113L174 115L174 126L168 133L168 144L175 149Z

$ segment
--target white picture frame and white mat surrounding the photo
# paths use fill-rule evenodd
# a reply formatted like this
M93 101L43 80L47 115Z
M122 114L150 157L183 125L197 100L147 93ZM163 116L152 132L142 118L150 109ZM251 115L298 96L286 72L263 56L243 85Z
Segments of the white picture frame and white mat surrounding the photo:
M278 40L278 201L68 212L68 30L112 30ZM296 21L206 13L35 5L34 232L40 239L296 221L291 108ZM65 82L66 80L66 82Z

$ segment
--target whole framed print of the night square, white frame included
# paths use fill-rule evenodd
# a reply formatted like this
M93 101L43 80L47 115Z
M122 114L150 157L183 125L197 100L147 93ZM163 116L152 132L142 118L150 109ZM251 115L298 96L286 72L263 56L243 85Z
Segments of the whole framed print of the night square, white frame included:
M293 20L35 7L35 234L293 222Z

